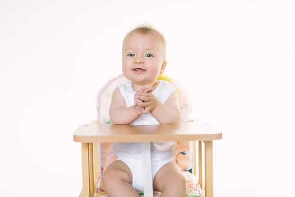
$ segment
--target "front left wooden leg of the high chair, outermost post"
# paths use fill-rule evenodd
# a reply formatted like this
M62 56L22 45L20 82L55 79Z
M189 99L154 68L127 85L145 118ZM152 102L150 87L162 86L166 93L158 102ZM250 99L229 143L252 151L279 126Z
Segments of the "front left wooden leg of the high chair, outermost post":
M90 197L90 168L89 168L89 143L82 145L82 194L81 197Z

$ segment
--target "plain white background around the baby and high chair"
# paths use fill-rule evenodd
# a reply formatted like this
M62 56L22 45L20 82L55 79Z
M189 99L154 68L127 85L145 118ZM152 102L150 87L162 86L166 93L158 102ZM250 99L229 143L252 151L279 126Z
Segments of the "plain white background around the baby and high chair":
M194 118L223 132L216 197L291 197L294 10L293 0L1 0L0 196L79 195L72 134L121 73L125 33L149 23L167 39L166 74L189 89Z

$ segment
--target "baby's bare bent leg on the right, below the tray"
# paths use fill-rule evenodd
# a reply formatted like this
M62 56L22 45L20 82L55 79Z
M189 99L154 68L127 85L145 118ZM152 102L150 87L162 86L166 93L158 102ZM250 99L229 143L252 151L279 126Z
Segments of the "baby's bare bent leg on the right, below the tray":
M163 165L156 173L153 188L161 192L161 197L185 197L185 179L175 163Z

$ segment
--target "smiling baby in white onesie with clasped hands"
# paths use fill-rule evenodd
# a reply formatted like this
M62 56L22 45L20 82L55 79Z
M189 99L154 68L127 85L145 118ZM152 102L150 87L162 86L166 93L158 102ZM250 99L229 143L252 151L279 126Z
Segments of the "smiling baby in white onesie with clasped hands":
M175 87L157 80L166 66L166 41L159 32L144 26L125 36L122 71L130 82L119 85L113 93L110 106L113 124L159 125L179 121ZM146 144L151 172L143 170ZM175 146L176 142L114 143L113 153L118 160L101 177L108 196L139 197L137 191L145 189L145 174L151 173L150 187L161 192L161 197L185 197L185 179L179 166L171 162Z

